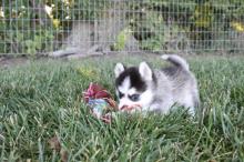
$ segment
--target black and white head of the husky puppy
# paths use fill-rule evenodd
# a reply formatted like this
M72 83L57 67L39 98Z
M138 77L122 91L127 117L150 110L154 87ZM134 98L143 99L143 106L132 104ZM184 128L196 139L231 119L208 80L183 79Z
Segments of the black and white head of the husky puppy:
M119 98L119 109L140 105L148 109L153 100L151 84L153 73L151 68L141 62L139 67L125 68L118 63L114 68L115 88Z

